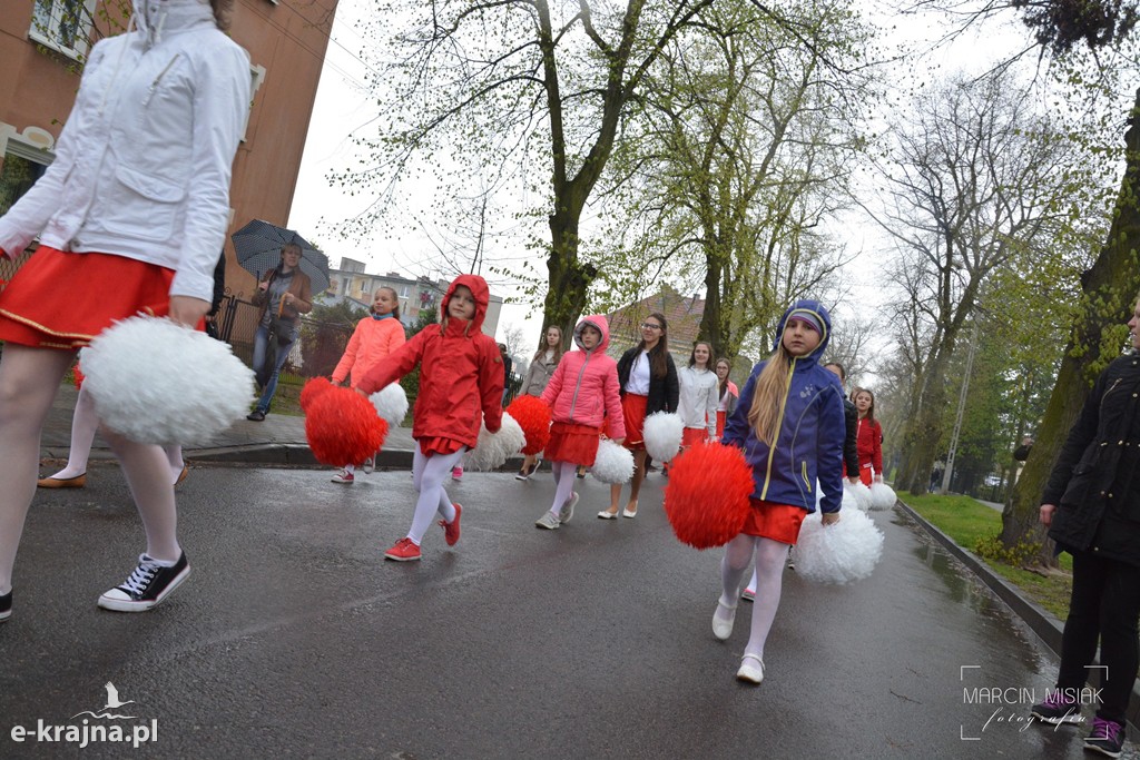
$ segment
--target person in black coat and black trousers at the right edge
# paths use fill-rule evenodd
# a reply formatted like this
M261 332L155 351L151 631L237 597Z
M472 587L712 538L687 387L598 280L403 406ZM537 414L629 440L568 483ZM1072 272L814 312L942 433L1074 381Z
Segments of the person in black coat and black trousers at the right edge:
M1073 595L1057 689L1033 706L1041 720L1061 724L1097 704L1084 745L1113 758L1140 659L1140 303L1129 328L1132 350L1097 378L1042 496L1041 522L1073 555ZM1082 689L1098 639L1102 688L1093 698Z

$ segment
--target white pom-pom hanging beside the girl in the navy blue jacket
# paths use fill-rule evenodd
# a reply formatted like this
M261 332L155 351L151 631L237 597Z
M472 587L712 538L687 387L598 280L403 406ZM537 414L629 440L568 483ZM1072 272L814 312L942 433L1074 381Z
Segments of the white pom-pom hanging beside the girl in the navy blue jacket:
M849 583L866 578L882 556L882 531L858 509L840 509L839 522L824 525L814 512L804 520L796 542L796 574L819 583Z

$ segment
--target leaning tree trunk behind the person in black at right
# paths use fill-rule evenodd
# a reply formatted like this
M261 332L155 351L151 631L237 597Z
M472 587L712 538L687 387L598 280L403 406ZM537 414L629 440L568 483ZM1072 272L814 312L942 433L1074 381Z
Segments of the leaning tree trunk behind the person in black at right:
M1108 352L1113 357L1118 350L1118 346L1114 349L1101 345L1105 328L1127 319L1140 292L1140 267L1137 261L1137 248L1140 247L1140 203L1137 198L1137 193L1140 191L1138 115L1140 90L1137 91L1130 126L1124 136L1127 157L1113 227L1097 261L1081 276L1084 307L1073 326L1033 450L1002 513L1001 542L1007 547L1040 542L1037 559L1049 566L1056 565L1056 559L1045 531L1037 522L1041 496L1069 428L1089 397L1096 374L1107 363L1102 356Z

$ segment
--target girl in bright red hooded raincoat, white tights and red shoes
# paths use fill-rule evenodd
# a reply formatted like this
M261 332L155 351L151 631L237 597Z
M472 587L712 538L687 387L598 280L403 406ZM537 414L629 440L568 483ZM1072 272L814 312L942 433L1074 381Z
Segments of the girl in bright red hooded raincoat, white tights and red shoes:
M491 433L503 422L503 359L498 344L482 332L489 302L482 277L459 275L443 296L440 324L422 329L357 385L358 393L370 395L420 365L412 412L412 438L417 442L412 477L420 498L407 537L384 554L386 559L418 559L420 542L437 513L447 545L459 540L463 507L451 504L443 479L475 446L480 420Z

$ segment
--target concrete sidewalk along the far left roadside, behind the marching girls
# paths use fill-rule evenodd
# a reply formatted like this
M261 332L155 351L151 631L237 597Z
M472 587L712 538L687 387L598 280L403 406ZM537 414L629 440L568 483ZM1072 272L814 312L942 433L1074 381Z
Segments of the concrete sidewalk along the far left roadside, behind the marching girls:
M72 411L79 391L72 385L59 389L55 406L43 426L40 459L66 460L71 448ZM389 430L388 440L376 466L389 469L412 467L412 431L407 427ZM256 464L323 467L309 450L304 439L304 417L270 414L264 422L241 419L218 436L215 444L204 449L187 449L184 455L190 464ZM91 448L91 459L113 459L114 455L99 435ZM50 473L49 473L50 474Z

